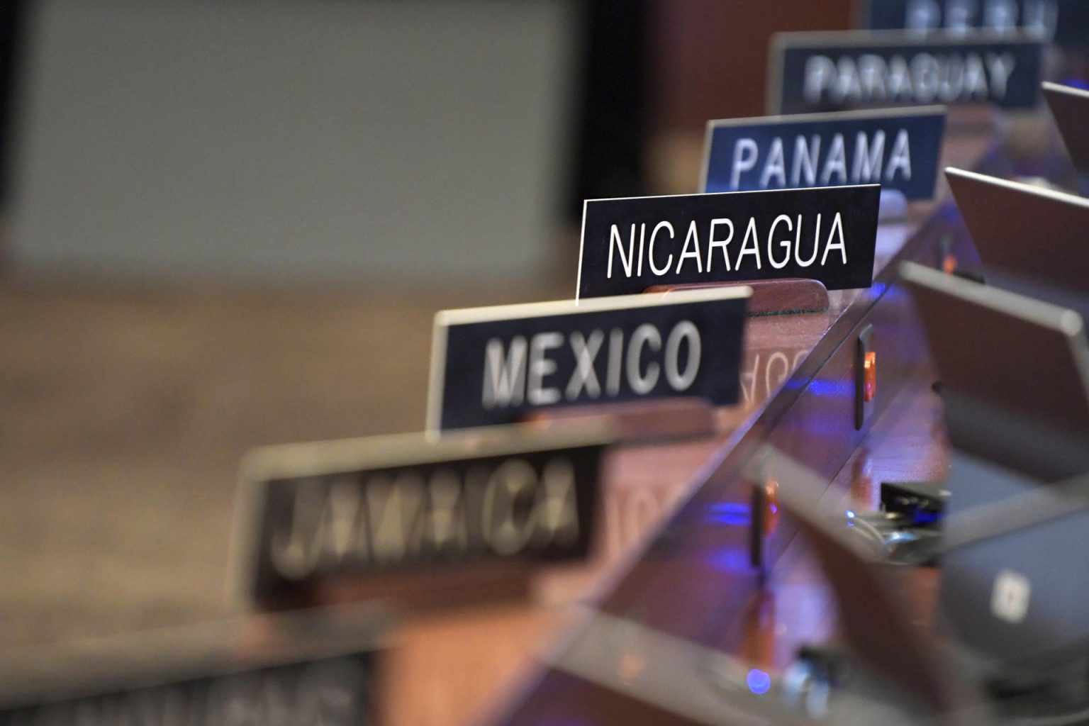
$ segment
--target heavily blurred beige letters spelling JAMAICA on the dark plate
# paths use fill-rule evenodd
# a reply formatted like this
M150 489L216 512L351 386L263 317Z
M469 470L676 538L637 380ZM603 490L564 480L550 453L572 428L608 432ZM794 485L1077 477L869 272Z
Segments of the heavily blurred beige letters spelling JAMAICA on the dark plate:
M438 467L303 481L291 517L269 533L274 571L322 573L501 556L567 546L579 537L575 470L556 454L540 471L519 457L466 471Z

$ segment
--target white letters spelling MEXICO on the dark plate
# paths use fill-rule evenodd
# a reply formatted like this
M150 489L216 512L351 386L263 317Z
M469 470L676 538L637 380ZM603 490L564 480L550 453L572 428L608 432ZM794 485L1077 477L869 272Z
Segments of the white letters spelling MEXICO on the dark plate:
M800 239L800 233L797 238ZM785 244L788 248L790 242ZM833 247L841 245L833 244ZM559 387L546 386L543 382L549 376L566 372L559 371L556 359L547 355L547 352L561 347L563 341L564 336L554 331L537 333L530 337L528 345L524 336L517 335L505 350L499 339L488 341L481 405L490 410L517 406L523 401L534 406L548 406L561 399L596 399L602 394L614 397L624 383L636 395L643 396L658 385L663 368L670 387L685 391L699 372L702 353L699 329L689 320L676 323L664 337L651 323L636 328L627 341L624 331L614 328L609 331L604 367L599 371L598 359L607 345L605 331L595 329L588 334L573 331L567 335L567 344L575 365L561 392ZM528 356L525 353L527 348ZM681 359L682 350L686 350L684 361Z

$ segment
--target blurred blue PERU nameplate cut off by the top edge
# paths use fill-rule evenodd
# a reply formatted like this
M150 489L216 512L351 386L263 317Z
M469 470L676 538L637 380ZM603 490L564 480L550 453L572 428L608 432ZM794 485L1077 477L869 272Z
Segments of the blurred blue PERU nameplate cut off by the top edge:
M1085 0L868 0L862 5L862 25L874 30L1002 35L1028 28L1064 46L1089 42Z

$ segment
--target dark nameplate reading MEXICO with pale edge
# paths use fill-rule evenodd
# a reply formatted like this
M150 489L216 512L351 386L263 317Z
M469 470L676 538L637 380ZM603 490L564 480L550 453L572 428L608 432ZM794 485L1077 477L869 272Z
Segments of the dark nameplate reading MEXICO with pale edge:
M677 396L733 404L750 293L739 286L439 312L428 428Z

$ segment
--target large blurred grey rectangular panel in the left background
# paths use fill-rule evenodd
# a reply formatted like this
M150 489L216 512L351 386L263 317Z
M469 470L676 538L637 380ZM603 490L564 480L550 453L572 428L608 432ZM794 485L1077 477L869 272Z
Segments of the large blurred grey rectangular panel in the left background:
M553 263L573 2L40 0L24 271L481 280Z

